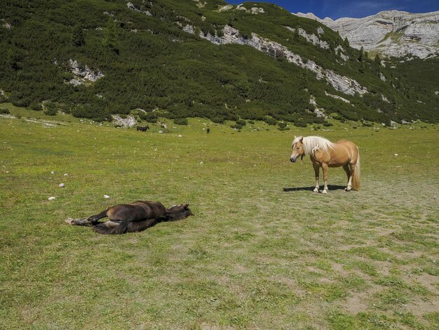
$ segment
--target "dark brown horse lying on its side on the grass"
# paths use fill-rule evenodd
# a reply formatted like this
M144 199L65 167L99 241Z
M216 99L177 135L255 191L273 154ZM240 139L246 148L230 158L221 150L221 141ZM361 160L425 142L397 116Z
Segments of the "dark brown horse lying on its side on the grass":
M166 209L163 204L151 201L136 201L109 207L101 213L83 219L68 218L69 225L91 225L100 234L124 234L140 232L162 221L180 220L191 216L189 204L174 205ZM100 223L99 219L109 220Z

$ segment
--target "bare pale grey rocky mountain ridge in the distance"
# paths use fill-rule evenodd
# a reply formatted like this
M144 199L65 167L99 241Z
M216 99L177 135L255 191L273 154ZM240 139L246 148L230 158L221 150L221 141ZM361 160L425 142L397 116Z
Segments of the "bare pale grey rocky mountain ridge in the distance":
M385 56L417 56L428 58L439 55L439 11L407 13L381 11L365 18L321 20L312 13L297 13L300 17L318 20L347 37L351 46Z

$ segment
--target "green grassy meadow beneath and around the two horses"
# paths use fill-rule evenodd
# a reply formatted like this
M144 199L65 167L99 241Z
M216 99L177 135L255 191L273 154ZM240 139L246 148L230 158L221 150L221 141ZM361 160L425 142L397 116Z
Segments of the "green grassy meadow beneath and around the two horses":
M10 109L0 329L439 328L438 126L144 133ZM356 143L362 190L330 169L313 194L295 135ZM137 199L194 216L114 236L65 224Z

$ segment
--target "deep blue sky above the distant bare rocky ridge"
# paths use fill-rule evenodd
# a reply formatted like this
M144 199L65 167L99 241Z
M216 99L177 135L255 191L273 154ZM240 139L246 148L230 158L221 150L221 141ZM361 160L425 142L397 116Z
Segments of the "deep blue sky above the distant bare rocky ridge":
M243 1L226 0L229 4L241 4ZM428 13L439 11L439 0L265 0L287 9L292 13L313 13L319 18L330 17L337 19L341 17L362 18L374 15L379 11L408 11L409 13Z

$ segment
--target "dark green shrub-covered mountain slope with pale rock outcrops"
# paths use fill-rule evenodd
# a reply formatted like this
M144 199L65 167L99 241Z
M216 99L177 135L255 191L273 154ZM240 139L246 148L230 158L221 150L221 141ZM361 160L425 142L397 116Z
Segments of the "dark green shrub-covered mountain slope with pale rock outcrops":
M431 89L396 86L400 74L332 29L271 4L7 1L0 14L0 98L17 105L94 119L438 120Z

